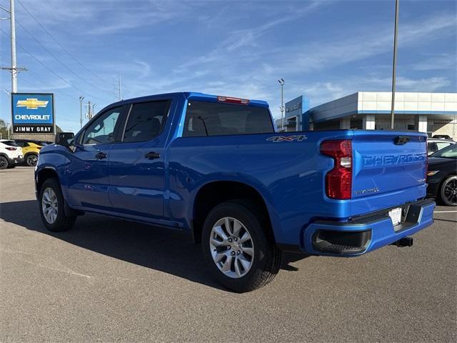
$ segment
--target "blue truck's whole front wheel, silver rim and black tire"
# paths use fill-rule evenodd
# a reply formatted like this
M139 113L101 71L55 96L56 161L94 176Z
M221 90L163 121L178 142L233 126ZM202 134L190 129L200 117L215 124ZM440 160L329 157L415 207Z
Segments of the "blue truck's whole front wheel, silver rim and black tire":
M73 227L76 216L65 213L64 196L57 179L46 179L39 193L41 220L49 231L66 231Z

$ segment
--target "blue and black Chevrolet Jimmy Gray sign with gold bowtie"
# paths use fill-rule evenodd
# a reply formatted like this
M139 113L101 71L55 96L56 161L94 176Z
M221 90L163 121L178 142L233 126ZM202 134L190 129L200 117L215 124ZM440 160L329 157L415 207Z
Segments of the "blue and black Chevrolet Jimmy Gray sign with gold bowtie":
M54 133L54 94L13 93L11 113L15 134Z

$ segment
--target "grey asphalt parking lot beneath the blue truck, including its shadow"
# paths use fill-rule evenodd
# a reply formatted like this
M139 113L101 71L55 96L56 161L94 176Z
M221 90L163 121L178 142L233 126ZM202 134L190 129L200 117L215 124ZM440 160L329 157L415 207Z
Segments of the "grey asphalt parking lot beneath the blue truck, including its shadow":
M410 248L354 259L287 255L233 294L179 232L92 214L44 229L33 168L0 171L1 342L456 342L457 212ZM453 212L452 212L453 211Z

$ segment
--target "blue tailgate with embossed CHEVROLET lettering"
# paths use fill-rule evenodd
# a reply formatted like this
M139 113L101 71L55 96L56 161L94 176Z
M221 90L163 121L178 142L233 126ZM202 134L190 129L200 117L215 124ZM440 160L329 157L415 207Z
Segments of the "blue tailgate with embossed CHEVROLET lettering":
M354 131L352 215L424 197L426 134Z

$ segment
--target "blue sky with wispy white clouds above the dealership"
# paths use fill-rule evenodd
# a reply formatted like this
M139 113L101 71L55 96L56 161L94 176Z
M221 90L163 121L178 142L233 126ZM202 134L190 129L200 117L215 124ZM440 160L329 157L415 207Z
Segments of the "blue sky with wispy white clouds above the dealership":
M400 1L398 91L457 91L456 6ZM305 94L311 106L389 91L393 17L393 0L16 0L18 65L29 69L18 89L54 92L69 131L79 129L79 96L102 109L117 100L119 75L124 99L202 91L264 99L278 117L280 77L286 100ZM9 35L9 21L0 29ZM0 64L10 64L2 32ZM7 71L0 81L0 118L11 121Z

